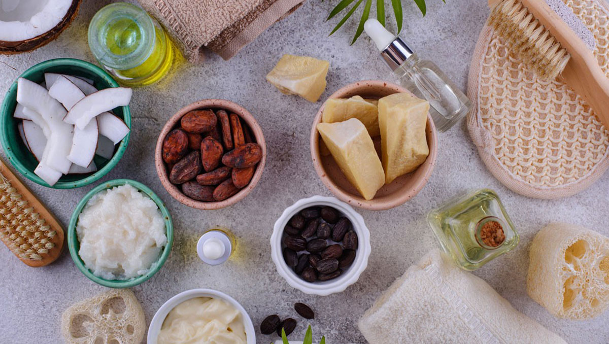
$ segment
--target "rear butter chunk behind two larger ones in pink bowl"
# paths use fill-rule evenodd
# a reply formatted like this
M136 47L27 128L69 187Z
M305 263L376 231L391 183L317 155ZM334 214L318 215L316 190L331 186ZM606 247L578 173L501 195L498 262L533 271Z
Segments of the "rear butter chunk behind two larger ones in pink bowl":
M381 135L379 131L379 111L376 104L364 100L360 96L349 99L328 99L323 106L322 122L334 123L347 121L350 118L359 119L365 125L370 137Z

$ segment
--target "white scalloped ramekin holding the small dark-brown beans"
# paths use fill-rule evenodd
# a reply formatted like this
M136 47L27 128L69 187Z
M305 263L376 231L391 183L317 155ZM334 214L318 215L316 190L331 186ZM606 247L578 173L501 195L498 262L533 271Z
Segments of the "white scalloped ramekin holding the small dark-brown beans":
M346 217L351 223L350 229L357 235L357 248L355 249L355 259L350 266L342 271L342 273L333 279L327 281L314 281L308 282L295 272L293 267L290 267L286 259L284 258L283 250L286 247L284 244L284 231L286 231L286 225L290 223L290 220L295 215L300 214L303 209L311 207L331 207L339 212L340 217ZM306 226L305 226L306 230ZM302 232L301 232L302 233ZM308 234L305 233L305 236ZM315 239L315 236L303 238L309 242ZM328 245L333 245L334 242L339 240L333 240L331 237L328 238ZM306 244L305 244L306 245ZM287 283L300 290L303 293L326 296L333 293L339 293L347 289L353 283L356 283L359 276L364 272L368 266L368 257L370 256L370 232L364 223L364 219L358 214L350 205L341 202L334 197L322 197L319 195L303 198L294 205L289 206L284 210L283 214L276 220L275 226L273 227L273 234L270 237L271 247L271 258L275 263L277 272L286 279ZM305 250L299 250L302 255Z

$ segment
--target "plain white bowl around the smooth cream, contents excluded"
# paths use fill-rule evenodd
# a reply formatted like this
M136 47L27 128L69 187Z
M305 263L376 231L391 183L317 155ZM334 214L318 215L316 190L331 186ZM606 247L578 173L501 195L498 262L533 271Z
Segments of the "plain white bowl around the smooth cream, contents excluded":
M185 292L181 292L178 295L175 295L174 297L167 300L163 304L163 306L158 309L157 313L152 318L152 321L150 321L146 342L148 344L157 344L158 335L161 332L161 327L163 326L163 322L165 321L167 314L169 314L169 312L171 312L171 310L174 309L175 306L178 306L178 304L183 303L184 301L188 301L191 298L197 297L219 298L238 309L239 312L241 312L241 317L243 318L245 336L247 337L247 344L256 344L256 331L252 323L252 318L250 318L250 315L247 314L245 308L241 306L241 304L239 304L236 300L234 300L234 298L231 298L227 294L213 289L186 290Z

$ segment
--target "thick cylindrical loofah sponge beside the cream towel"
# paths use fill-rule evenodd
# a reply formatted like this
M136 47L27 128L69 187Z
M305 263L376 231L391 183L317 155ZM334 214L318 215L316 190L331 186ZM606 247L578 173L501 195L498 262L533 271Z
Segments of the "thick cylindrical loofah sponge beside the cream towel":
M529 296L560 318L596 317L609 306L609 238L551 223L530 248Z

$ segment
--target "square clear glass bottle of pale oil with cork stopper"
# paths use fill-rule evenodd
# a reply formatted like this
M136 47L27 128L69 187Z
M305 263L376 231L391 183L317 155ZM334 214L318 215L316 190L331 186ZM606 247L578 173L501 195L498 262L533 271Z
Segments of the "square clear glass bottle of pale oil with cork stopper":
M429 212L429 226L446 253L465 270L476 270L518 245L518 233L499 196L481 189Z

